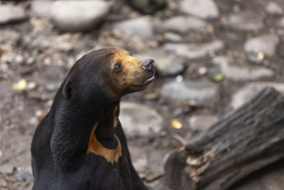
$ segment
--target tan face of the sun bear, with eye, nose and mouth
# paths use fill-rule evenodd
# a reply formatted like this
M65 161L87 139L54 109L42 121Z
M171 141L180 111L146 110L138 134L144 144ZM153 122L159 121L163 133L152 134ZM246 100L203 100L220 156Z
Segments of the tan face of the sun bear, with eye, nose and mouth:
M135 58L115 49L110 57L105 84L113 97L144 90L155 78L154 60Z

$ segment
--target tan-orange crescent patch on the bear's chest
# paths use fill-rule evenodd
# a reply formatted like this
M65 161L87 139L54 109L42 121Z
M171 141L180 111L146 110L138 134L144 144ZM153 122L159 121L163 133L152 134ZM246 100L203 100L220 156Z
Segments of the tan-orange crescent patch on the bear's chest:
M87 149L87 153L92 152L96 155L100 155L100 156L104 157L105 159L107 159L107 162L111 162L111 164L114 164L114 162L119 161L119 157L121 157L121 155L122 155L121 144L119 142L119 139L114 134L114 137L116 137L117 142L118 142L116 149L107 149L106 147L104 147L102 145L102 143L100 143L97 140L97 137L94 134L94 131L96 130L98 124L99 123L97 123L93 127L91 137L89 138L89 146L88 146L88 149Z

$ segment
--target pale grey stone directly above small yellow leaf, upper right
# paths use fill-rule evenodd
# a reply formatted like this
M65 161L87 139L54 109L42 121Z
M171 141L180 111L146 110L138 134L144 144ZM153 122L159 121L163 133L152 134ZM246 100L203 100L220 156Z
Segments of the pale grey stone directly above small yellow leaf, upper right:
M262 34L248 39L244 44L244 50L247 53L264 53L265 56L271 57L275 55L278 43L279 38L275 34Z

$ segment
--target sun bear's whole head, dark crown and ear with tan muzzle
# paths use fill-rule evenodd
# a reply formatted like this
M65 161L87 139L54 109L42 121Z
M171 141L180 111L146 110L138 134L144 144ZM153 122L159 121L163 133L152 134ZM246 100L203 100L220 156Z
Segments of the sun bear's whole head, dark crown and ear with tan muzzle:
M67 100L79 102L92 98L113 102L144 90L154 80L154 74L153 59L135 58L116 48L102 48L75 63L63 83L63 95Z

